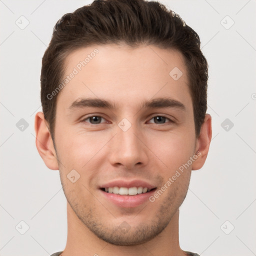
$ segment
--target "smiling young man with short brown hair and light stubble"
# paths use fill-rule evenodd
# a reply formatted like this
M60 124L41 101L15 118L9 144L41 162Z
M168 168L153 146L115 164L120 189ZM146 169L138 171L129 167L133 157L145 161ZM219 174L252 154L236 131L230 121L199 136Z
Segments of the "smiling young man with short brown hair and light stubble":
M198 35L158 2L93 1L56 23L35 117L67 199L52 255L198 255L178 215L211 139L207 78Z

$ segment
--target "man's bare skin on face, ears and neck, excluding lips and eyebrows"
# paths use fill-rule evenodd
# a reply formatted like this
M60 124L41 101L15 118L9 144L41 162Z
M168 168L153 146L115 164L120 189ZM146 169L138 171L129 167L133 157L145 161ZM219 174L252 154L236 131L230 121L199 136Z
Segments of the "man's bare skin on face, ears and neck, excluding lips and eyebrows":
M205 162L211 116L205 115L196 137L180 52L152 45L93 45L67 56L66 74L95 48L99 53L57 95L55 148L43 113L35 116L36 147L48 168L59 169L67 198L67 242L61 255L186 255L179 247L178 208L191 170ZM174 67L183 73L178 80L169 75ZM82 97L103 98L116 108L68 108ZM178 100L185 110L140 107L156 97ZM93 123L88 114L102 118ZM127 131L118 126L122 118L131 124ZM197 151L200 156L154 202L123 208L98 189L117 178L141 179L160 188ZM67 178L72 169L80 175L74 183ZM118 228L123 221L130 227L125 233Z

